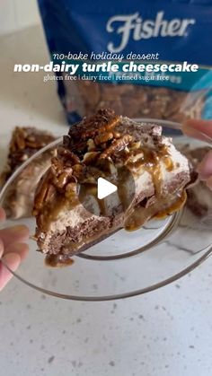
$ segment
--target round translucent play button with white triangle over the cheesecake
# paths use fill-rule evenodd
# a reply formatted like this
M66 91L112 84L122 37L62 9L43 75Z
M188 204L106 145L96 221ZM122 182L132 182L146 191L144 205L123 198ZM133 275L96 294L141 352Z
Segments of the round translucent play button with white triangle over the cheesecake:
M125 166L110 169L105 163L98 169L88 167L82 180L78 183L78 199L90 214L122 214L135 197L135 181Z

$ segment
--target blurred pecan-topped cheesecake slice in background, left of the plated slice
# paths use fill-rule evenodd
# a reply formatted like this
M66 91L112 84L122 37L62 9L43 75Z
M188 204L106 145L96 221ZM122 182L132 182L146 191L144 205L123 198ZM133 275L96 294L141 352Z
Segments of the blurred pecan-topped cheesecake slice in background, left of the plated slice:
M23 162L55 139L49 132L35 127L15 127L9 144L6 166L0 175L0 188L4 187L5 182ZM7 218L31 216L35 188L38 179L49 168L51 156L51 152L43 153L7 188L7 196L4 198Z

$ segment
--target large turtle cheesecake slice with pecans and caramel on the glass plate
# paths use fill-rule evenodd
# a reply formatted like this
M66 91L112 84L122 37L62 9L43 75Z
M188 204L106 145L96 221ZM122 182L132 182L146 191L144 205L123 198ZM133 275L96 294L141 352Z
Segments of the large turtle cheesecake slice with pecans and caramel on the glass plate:
M109 175L118 192L100 200L97 180ZM70 128L40 180L33 209L39 249L51 264L66 263L121 228L133 231L179 210L194 178L162 127L101 109Z

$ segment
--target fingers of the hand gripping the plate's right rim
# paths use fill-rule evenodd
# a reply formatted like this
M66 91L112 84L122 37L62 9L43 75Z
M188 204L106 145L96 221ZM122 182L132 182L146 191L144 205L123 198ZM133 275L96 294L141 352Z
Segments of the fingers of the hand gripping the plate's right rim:
M204 137L198 136L198 131L212 139L212 120L187 120L182 130L188 136L203 139ZM208 188L212 189L212 150L199 163L197 170L199 179L206 181Z

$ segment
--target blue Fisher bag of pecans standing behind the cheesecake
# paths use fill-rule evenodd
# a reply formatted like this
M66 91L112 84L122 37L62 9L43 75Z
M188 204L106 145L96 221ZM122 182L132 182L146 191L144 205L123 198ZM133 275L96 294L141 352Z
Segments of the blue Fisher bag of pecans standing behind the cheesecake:
M195 73L168 73L168 81L145 75L107 82L99 75L94 82L92 74L69 81L57 72L69 123L102 107L131 118L212 118L212 0L39 0L39 5L54 62L62 56L78 63L75 55L87 54L98 63L159 58L199 65Z

